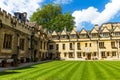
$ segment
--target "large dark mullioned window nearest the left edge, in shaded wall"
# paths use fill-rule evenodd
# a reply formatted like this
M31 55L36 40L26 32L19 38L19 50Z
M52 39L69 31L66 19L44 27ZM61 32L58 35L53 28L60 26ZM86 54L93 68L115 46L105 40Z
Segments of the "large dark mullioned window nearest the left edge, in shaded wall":
M3 48L5 48L5 49L11 49L12 48L12 35L10 35L10 34L5 34L4 35Z

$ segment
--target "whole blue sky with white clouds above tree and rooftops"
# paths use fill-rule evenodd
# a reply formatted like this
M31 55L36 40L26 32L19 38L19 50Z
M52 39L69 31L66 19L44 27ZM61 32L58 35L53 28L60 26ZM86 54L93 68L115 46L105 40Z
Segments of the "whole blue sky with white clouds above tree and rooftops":
M91 30L95 24L120 22L120 0L0 0L0 8L13 15L27 12L28 18L42 5L53 3L62 6L63 14L75 17L77 31Z

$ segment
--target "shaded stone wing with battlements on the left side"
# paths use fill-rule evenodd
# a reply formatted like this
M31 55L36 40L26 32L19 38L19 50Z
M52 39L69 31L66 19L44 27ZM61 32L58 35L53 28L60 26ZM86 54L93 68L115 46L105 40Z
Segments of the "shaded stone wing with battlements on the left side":
M0 60L27 58L46 59L48 56L47 30L35 22L27 22L26 13L15 13L15 16L0 9Z

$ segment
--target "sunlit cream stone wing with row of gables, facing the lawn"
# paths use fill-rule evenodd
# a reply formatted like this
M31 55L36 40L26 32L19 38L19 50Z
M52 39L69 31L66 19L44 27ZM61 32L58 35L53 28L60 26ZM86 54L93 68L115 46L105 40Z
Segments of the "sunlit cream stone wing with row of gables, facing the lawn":
M120 23L95 25L77 32L53 31L49 52L65 60L116 60L120 57Z

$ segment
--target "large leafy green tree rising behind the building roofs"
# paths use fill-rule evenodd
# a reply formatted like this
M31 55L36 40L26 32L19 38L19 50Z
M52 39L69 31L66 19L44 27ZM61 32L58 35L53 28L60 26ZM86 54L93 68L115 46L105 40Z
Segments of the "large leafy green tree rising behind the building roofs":
M30 17L30 21L36 21L50 32L62 31L64 27L70 31L74 27L74 17L68 12L62 14L61 6L55 4L43 5L41 9L37 9Z

